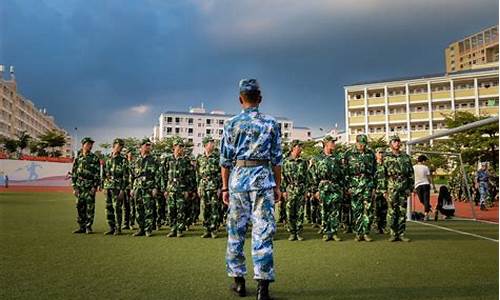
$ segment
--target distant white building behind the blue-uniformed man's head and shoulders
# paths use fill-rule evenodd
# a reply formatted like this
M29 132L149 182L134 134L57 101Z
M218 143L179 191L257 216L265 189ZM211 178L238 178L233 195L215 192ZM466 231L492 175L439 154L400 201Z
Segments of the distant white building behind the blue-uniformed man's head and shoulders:
M221 110L207 113L203 106L191 108L187 112L166 111L160 114L158 124L153 128L153 141L180 136L193 143L193 153L196 155L203 152L202 141L205 136L210 135L216 140L221 139L225 122L233 116L234 114L227 114ZM283 140L311 139L309 128L294 127L293 121L287 118L276 119L280 123Z

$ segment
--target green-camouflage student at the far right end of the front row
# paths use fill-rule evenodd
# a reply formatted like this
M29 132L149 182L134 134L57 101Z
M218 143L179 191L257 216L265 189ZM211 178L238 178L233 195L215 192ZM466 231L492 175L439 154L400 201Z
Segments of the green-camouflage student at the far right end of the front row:
M408 197L413 190L415 177L411 158L400 151L401 140L396 136L390 138L388 151L384 157L385 178L387 186L387 226L391 230L389 241L409 242L404 236L406 231L406 209Z

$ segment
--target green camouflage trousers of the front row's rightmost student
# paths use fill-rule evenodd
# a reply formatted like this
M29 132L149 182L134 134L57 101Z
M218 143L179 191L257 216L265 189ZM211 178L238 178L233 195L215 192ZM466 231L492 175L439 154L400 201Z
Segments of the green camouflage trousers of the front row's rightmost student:
M401 236L406 230L407 195L398 189L387 191L387 226L392 236Z

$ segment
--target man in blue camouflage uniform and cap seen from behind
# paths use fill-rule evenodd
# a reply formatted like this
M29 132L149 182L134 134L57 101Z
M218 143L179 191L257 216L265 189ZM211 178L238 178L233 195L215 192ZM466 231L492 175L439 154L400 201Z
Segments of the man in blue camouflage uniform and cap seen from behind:
M274 203L281 198L283 154L279 123L259 112L261 101L257 80L241 80L243 111L226 122L221 139L221 191L224 203L229 205L226 267L235 281L232 289L239 296L246 294L243 245L251 222L257 299L270 299L269 283L275 280Z

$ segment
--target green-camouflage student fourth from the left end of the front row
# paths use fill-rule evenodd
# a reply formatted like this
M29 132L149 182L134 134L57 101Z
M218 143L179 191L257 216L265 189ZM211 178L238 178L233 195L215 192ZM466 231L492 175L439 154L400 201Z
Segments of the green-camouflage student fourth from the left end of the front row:
M168 237L182 237L186 230L186 201L194 189L190 176L194 167L184 155L184 141L177 137L173 141L173 156L162 163L162 190L167 199L171 231Z

